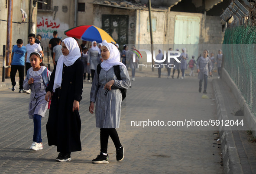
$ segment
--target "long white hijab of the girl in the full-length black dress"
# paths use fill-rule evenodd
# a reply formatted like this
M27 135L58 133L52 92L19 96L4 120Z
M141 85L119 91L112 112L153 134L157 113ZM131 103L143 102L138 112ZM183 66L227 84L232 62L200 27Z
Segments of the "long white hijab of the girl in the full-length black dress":
M61 87L62 85L63 63L66 66L70 66L70 65L73 65L78 58L81 57L81 52L80 52L78 43L74 38L68 37L68 38L65 38L62 42L65 44L65 46L69 50L69 54L68 56L62 55L58 58L58 62L55 70L53 92L55 92L56 88Z

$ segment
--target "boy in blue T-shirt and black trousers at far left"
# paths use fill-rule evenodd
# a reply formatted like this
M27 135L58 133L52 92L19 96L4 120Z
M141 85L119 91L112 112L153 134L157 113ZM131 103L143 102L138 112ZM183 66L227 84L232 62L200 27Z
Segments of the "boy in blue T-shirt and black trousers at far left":
M25 67L25 54L26 47L23 46L23 40L18 39L17 45L14 45L11 59L11 72L10 78L12 81L12 91L15 91L16 81L15 75L17 70L19 71L19 93L23 92L23 81L24 81L24 67Z

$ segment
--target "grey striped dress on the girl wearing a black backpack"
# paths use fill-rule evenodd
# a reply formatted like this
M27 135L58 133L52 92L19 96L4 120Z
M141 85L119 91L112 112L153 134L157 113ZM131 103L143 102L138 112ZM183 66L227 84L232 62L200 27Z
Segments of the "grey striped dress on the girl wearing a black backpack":
M120 77L122 80L117 80L113 67L110 68L110 70L108 71L104 71L104 69L101 69L99 75L97 75L97 69L95 71L94 80L91 86L90 101L94 103L96 102L94 106L96 127L119 127L122 94L117 88L128 89L128 87L130 87L130 77L127 69L121 65L119 67ZM108 91L106 95L104 95L105 91L107 90L104 89L104 85L110 80L114 80L115 82L111 87L111 90Z

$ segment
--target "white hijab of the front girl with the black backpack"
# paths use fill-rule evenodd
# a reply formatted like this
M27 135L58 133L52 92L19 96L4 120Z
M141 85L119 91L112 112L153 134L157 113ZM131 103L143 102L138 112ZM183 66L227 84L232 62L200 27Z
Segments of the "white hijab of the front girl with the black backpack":
M126 68L126 66L122 62L120 62L120 53L115 45L111 43L104 43L102 47L103 46L107 47L110 55L107 60L103 60L103 62L100 64L101 68L103 68L105 71L110 70L110 68L115 65L122 65Z

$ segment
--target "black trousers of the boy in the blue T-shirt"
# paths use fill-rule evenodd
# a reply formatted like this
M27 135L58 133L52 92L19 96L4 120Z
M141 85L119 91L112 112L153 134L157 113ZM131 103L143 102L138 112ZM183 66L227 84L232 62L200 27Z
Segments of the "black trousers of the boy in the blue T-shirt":
M11 78L13 86L16 85L15 75L16 75L17 71L19 71L19 89L23 90L24 65L12 65L11 66L10 78Z

